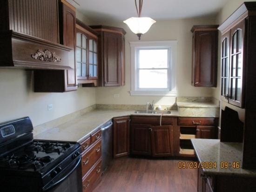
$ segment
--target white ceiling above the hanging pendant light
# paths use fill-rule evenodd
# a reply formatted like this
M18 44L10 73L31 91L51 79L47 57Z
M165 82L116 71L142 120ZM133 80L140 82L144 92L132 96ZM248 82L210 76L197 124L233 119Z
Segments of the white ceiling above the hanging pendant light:
M89 20L126 20L136 17L135 0L68 0ZM138 0L137 0L138 2ZM144 0L142 16L154 20L214 15L228 0Z

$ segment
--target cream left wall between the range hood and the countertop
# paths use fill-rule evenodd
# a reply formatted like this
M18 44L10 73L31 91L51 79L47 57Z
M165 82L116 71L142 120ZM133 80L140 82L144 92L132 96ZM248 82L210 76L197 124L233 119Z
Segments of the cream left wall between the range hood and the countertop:
M80 20L87 22L79 14ZM0 69L0 122L29 116L34 126L94 105L95 88L68 93L34 93L31 71ZM47 105L53 104L48 111Z

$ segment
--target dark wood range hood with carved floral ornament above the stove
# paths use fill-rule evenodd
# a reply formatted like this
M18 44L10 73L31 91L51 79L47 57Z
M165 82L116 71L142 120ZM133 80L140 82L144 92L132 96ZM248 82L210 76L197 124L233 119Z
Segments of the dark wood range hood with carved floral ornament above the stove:
M0 67L74 69L74 47L60 41L58 0L0 1Z

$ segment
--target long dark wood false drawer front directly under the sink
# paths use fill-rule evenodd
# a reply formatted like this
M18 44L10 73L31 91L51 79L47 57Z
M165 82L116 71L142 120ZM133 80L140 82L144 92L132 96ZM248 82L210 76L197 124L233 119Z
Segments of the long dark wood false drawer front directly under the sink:
M173 117L162 117L162 125L175 125ZM149 124L160 125L160 116L131 116L131 123L133 124Z

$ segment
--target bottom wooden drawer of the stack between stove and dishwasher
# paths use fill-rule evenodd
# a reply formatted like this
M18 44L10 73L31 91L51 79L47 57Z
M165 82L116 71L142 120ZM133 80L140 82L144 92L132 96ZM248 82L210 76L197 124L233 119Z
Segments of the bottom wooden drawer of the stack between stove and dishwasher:
M101 159L99 159L93 169L83 179L83 192L91 192L93 185L101 177Z

